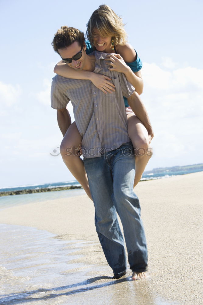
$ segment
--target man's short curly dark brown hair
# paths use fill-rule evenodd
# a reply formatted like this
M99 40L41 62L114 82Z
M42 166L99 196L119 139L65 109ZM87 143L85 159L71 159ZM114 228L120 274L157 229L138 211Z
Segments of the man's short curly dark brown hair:
M51 45L54 51L58 53L58 49L69 47L75 41L78 41L82 47L85 43L84 33L74 27L63 26L54 35Z

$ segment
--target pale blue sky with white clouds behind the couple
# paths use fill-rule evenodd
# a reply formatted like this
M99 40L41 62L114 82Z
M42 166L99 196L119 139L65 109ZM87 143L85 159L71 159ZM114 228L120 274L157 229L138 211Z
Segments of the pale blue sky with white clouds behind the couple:
M103 2L1 0L0 187L72 180L50 107L59 60L51 41L62 25L86 31ZM108 1L143 61L142 100L155 131L147 170L202 160L202 1ZM69 106L70 112L72 109Z

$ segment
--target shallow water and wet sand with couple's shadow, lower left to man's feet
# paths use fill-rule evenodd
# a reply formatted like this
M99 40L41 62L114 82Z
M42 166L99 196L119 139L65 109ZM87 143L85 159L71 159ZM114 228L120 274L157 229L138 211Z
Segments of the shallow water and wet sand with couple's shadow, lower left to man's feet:
M88 243L82 240L64 241L47 231L0 224L0 304L177 304L155 296L150 278L132 282L128 271L113 280L108 266L69 263L79 257L71 253L84 246ZM97 276L98 271L105 275Z

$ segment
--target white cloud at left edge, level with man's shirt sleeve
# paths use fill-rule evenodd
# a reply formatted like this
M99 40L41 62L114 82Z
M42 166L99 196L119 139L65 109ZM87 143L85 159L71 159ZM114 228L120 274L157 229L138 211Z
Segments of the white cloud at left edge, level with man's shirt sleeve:
M18 84L5 84L0 81L0 103L1 107L12 106L18 101L21 95L21 88Z

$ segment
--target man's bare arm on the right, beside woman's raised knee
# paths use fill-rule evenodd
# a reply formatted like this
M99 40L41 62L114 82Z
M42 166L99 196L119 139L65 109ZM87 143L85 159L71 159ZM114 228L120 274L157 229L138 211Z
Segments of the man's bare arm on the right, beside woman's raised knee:
M142 100L140 99L138 93L134 91L133 94L127 100L132 111L136 114L138 119L141 120L142 124L145 126L146 130L148 131L148 134L151 135L153 138L154 133L152 130L152 125L149 120L147 110Z

